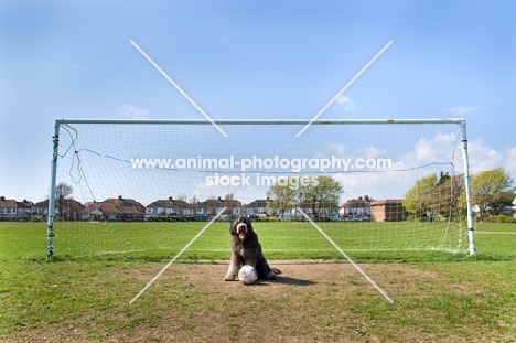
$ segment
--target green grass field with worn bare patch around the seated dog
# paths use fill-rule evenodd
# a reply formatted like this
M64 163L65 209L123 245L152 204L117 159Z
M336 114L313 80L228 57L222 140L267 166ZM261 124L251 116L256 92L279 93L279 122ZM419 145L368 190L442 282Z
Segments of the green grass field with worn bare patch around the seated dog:
M469 257L365 250L373 236L361 236L361 223L346 234L321 223L391 304L321 235L286 236L273 226L257 232L281 277L224 282L229 236L227 223L214 223L129 304L206 223L166 224L148 235L133 224L56 223L56 256L46 261L44 223L0 223L0 341L515 342L514 224L480 224L479 254ZM388 229L375 242L387 244Z

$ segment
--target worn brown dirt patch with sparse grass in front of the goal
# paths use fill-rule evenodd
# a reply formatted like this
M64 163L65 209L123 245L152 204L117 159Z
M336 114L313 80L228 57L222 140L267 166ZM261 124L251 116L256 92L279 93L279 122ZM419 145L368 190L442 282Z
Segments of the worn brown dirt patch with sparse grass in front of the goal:
M203 300L197 303L196 296L189 294L187 313L176 313L173 324L154 328L152 339L182 342L385 341L377 329L370 330L367 311L375 312L377 308L391 311L397 306L390 304L352 265L288 261L271 261L270 265L279 268L281 275L276 280L258 280L251 286L223 281L226 264L172 265L157 281L158 289L149 288L142 298L169 298L184 287ZM421 288L437 277L436 272L400 265L361 265L361 268L395 302L400 301L396 299L400 288L405 294L428 297ZM166 290L168 282L175 285L175 289ZM357 314L359 299L370 309ZM180 303L176 306L182 308ZM405 331L401 336L410 341L418 332L419 329ZM133 335L148 339L149 328L135 328Z

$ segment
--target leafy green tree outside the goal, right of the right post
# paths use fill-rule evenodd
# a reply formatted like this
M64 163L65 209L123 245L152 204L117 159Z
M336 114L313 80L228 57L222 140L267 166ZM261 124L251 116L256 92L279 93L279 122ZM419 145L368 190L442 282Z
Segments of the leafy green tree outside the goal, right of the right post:
M487 208L496 212L501 204L510 203L516 190L513 184L514 179L503 168L480 172L471 179L472 200L479 206L480 221Z

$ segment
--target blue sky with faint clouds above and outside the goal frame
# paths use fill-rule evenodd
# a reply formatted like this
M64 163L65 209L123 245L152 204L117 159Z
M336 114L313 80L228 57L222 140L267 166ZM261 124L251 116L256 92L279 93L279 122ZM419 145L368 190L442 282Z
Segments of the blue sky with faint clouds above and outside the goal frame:
M512 1L1 1L0 193L47 194L54 118L467 120L516 178ZM116 194L115 194L116 195ZM355 196L350 194L351 197Z

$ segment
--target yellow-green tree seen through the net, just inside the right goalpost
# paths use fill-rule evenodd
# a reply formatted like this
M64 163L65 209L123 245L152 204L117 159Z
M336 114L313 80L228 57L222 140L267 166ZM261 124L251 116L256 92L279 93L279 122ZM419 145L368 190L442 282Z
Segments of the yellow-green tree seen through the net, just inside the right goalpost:
M436 174L416 181L416 184L405 193L405 210L416 217L420 218L424 216L429 210L437 182L438 178Z

